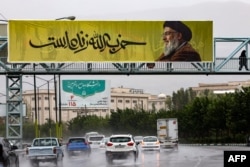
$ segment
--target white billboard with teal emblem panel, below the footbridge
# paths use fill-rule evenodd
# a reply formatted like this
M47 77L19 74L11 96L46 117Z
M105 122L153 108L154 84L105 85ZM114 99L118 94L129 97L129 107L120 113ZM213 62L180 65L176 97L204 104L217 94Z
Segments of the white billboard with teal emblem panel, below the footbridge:
M108 108L110 82L107 80L63 79L61 81L61 107Z

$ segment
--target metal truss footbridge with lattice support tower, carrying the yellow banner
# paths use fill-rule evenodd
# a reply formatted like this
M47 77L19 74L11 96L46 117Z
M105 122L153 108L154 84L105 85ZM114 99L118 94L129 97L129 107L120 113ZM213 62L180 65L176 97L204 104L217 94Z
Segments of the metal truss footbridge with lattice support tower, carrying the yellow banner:
M6 76L6 137L22 141L23 75L249 75L239 71L239 54L250 38L214 38L213 62L8 63L7 37L0 36L0 75ZM227 46L227 48L225 47ZM226 48L226 49L225 49Z

